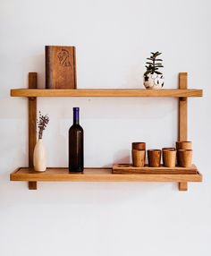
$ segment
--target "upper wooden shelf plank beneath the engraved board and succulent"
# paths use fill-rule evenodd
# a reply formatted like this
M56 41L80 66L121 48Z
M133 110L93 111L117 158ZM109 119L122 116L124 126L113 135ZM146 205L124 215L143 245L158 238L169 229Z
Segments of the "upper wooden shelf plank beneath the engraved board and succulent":
M12 97L202 97L203 90L189 89L12 89Z

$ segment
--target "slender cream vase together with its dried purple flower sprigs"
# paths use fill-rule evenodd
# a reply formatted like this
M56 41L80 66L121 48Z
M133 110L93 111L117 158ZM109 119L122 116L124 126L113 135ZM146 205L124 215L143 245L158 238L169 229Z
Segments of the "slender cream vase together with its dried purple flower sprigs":
M46 171L46 149L44 147L42 138L43 131L46 129L46 124L49 122L49 117L47 115L41 115L39 111L38 118L38 141L35 145L34 149L34 169L37 172L45 172Z

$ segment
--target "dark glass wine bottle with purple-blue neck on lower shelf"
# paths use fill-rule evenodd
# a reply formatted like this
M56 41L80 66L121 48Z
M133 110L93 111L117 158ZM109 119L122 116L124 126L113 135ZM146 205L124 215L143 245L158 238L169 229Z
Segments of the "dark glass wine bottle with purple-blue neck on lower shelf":
M83 128L79 124L79 107L73 107L73 124L69 130L69 172L83 172Z

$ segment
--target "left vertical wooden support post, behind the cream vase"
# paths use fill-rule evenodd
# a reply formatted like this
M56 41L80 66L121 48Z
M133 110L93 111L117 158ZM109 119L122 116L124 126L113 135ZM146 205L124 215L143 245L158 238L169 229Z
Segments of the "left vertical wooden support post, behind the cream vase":
M29 89L37 89L37 73L29 73ZM37 98L29 98L29 167L33 167L33 152L37 141ZM37 182L29 182L30 190L37 190Z

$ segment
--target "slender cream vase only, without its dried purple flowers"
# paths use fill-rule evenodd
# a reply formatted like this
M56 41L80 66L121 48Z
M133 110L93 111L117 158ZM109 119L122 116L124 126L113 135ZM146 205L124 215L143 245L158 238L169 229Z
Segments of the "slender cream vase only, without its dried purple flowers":
M36 172L46 171L46 149L42 139L38 139L35 145L33 163Z

